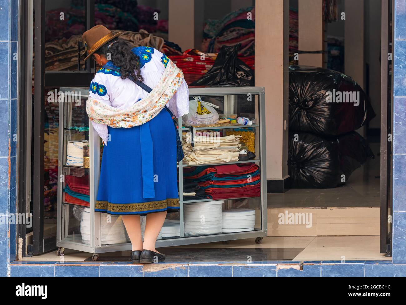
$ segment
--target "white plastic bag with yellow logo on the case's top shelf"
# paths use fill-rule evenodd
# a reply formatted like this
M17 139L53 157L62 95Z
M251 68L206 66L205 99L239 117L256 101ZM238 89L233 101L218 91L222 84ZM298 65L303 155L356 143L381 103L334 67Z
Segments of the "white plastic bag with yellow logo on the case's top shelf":
M202 101L200 97L193 97L193 100L189 101L189 113L186 114L185 125L216 124L218 113L214 108L218 108L218 106Z

